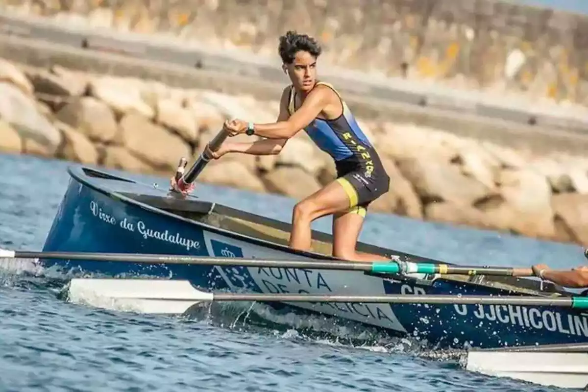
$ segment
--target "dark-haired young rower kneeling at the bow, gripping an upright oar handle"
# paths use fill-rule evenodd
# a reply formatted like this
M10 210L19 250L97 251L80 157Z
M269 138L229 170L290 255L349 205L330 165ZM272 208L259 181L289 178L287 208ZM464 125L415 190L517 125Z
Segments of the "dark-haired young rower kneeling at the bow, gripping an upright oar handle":
M217 152L208 150L209 155L215 159L229 152L276 155L288 139L304 129L318 148L333 158L337 178L296 204L289 246L310 250L311 222L333 215L333 256L365 262L389 260L355 249L369 204L389 190L390 178L374 146L336 89L317 80L322 49L315 39L289 31L280 37L278 52L283 72L292 82L283 89L278 120L269 124L226 121L223 128L230 136L246 133L264 139L249 143L228 139Z

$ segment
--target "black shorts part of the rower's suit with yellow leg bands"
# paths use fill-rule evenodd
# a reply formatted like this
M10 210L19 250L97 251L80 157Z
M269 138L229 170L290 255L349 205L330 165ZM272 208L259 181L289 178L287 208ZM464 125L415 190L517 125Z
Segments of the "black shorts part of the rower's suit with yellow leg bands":
M390 189L390 177L379 159L373 159L373 166L359 165L353 159L340 160L335 165L337 182L349 196L348 212L365 216L368 205Z

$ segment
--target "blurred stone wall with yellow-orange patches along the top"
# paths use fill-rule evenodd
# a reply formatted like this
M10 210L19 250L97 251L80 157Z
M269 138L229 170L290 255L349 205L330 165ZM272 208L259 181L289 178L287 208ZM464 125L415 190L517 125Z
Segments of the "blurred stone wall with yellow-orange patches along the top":
M278 36L298 29L323 43L323 64L584 109L588 17L521 3L0 0L0 9L64 24L165 33L271 58Z

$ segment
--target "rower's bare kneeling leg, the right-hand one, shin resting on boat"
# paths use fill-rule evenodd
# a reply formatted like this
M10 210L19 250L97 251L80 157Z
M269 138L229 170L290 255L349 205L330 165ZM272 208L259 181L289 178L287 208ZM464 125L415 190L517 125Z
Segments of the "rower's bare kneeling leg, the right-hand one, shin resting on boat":
M358 212L336 213L333 216L333 256L353 262L389 262L390 259L385 256L355 250L365 219Z

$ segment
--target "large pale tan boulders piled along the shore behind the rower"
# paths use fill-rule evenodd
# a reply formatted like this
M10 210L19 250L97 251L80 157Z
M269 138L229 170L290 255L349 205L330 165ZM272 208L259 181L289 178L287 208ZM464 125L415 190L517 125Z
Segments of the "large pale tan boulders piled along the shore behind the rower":
M168 176L226 118L273 122L277 115L277 100L0 59L4 152ZM533 156L436 129L359 121L392 179L372 210L588 245L588 158ZM199 181L301 199L334 178L329 157L299 132L277 156L226 155Z

